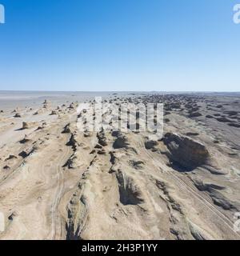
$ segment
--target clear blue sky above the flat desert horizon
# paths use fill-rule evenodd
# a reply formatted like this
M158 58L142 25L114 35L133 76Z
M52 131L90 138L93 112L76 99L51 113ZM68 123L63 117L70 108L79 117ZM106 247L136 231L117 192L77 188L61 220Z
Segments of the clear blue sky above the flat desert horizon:
M0 90L239 91L240 0L0 3Z

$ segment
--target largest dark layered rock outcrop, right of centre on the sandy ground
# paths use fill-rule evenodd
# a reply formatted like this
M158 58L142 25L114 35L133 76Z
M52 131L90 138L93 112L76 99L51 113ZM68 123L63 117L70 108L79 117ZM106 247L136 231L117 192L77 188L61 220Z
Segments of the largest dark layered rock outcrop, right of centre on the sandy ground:
M167 133L163 141L169 150L167 156L170 158L170 161L184 169L193 170L198 166L206 164L210 158L206 146L192 138Z

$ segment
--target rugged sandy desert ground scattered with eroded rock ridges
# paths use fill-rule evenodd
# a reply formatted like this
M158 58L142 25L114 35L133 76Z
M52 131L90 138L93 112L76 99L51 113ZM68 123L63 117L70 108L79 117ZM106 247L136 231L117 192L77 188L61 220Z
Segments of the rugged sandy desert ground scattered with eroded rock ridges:
M0 239L240 238L239 94L105 99L163 103L162 138L79 130L69 98L0 101Z

